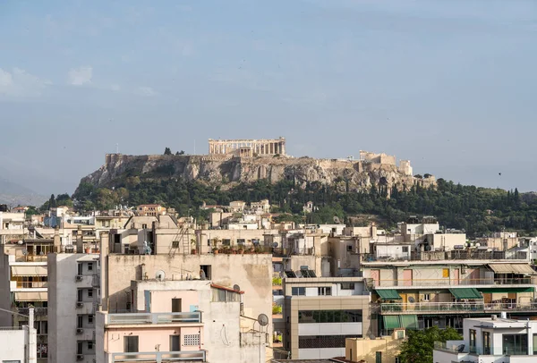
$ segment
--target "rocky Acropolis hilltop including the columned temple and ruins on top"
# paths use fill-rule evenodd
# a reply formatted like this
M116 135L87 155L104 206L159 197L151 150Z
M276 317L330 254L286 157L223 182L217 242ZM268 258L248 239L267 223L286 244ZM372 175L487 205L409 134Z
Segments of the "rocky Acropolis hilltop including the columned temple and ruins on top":
M360 159L316 159L286 155L286 140L279 139L209 139L207 155L107 154L105 165L83 178L98 187L114 186L118 180L137 176L144 179L183 178L215 185L240 182L294 180L299 185L322 182L349 191L366 190L372 184L408 188L435 185L433 176L413 177L410 161L360 151Z

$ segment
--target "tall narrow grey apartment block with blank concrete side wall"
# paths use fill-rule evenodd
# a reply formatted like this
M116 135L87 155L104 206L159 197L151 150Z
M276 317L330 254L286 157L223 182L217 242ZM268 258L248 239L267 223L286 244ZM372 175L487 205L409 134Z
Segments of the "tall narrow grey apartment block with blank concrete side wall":
M94 362L99 273L98 254L48 255L49 362Z

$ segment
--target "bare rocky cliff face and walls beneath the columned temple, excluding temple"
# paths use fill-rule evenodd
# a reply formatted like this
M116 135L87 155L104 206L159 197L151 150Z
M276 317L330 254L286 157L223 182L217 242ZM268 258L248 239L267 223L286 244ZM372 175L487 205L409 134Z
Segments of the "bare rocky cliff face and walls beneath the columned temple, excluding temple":
M111 187L129 176L140 178L183 178L210 184L234 185L240 182L269 182L294 180L322 182L338 189L367 190L372 184L388 188L408 188L419 183L430 186L434 177L414 178L401 172L396 165L341 159L315 159L311 157L259 156L127 156L109 154L105 165L83 178L96 187Z

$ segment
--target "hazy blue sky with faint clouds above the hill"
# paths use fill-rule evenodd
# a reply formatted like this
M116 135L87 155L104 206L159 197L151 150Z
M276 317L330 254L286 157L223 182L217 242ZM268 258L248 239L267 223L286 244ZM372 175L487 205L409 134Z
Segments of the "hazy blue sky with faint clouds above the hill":
M537 190L536 85L534 0L3 1L0 175L71 193L116 143L285 136Z

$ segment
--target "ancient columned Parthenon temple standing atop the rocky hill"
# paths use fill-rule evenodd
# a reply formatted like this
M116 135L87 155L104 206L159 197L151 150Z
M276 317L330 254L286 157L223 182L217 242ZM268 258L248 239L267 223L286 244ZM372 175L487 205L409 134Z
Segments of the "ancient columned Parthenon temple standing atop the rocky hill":
M286 155L286 139L209 139L209 155Z

